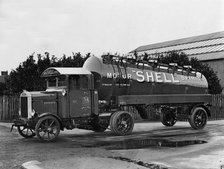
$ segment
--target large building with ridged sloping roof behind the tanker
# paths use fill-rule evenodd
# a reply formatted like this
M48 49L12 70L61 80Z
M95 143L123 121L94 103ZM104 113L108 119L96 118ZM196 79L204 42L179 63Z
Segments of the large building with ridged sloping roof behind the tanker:
M140 46L130 54L135 51L138 56L147 53L152 58L169 51L184 52L188 57L196 57L209 64L217 72L224 88L224 31Z

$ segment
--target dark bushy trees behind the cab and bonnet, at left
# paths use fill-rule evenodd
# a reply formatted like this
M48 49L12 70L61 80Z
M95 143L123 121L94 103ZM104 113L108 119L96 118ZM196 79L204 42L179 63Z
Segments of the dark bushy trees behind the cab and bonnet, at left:
M22 90L40 91L45 90L46 85L42 72L48 67L82 67L87 57L80 53L72 53L72 56L63 55L60 59L54 55L50 56L48 52L44 55L37 54L37 61L34 59L34 53L26 61L22 62L15 70L12 70L6 82L6 87L0 86L1 90L7 89L7 93L20 93Z

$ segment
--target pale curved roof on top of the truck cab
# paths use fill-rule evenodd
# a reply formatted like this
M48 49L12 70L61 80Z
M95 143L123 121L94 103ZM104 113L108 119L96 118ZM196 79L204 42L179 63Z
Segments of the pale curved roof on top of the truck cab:
M50 67L47 68L42 74L42 77L58 76L58 75L89 75L90 71L84 68L74 67Z

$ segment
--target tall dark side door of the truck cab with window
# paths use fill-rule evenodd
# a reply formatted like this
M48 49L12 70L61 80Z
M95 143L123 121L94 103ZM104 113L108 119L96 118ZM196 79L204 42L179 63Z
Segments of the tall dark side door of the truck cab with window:
M69 78L70 117L91 114L91 75L72 75Z

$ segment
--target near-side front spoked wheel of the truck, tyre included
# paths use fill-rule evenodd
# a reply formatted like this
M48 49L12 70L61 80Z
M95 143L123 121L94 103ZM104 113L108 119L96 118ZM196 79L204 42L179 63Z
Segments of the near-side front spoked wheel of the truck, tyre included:
M53 116L45 116L38 120L35 132L39 140L53 141L60 133L60 123Z

